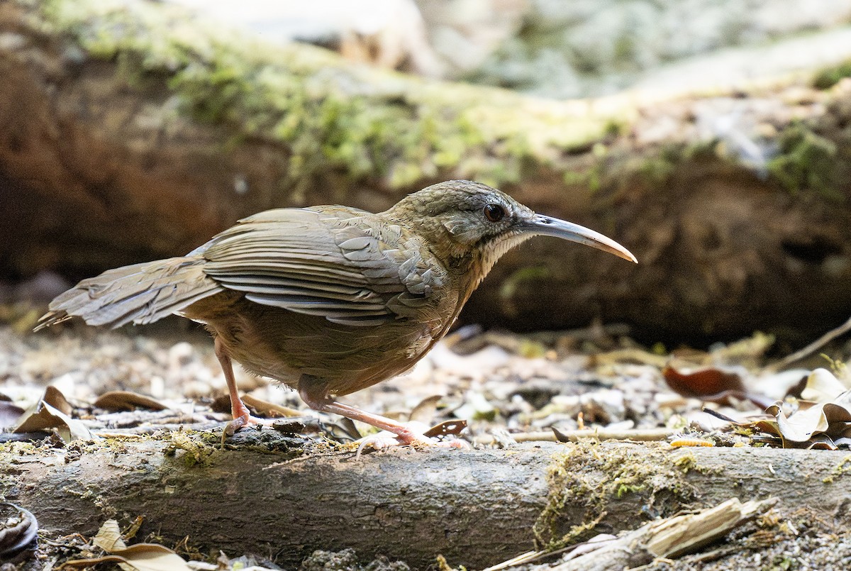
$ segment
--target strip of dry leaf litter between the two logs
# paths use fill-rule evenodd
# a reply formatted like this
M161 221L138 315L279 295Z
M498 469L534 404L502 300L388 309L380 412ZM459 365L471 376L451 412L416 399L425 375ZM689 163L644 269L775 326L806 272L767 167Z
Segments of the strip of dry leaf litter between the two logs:
M21 418L42 419L31 426L56 431L66 443L181 426L220 430L229 414L227 408L217 412L214 399L226 398L226 385L206 334L138 331L77 327L22 337L0 327L0 393L28 410ZM770 345L768 336L757 334L709 351L666 352L637 345L616 328L454 334L408 374L346 400L449 432L466 420L462 434L477 446L614 437L666 439L676 446L848 448L847 374L838 366L834 372L776 372L766 366ZM368 432L317 414L293 391L238 368L237 383L255 412L289 417L283 422L294 431L342 442ZM69 421L90 436L72 430ZM152 560L160 553L135 549ZM131 549L99 557L132 560L134 554Z

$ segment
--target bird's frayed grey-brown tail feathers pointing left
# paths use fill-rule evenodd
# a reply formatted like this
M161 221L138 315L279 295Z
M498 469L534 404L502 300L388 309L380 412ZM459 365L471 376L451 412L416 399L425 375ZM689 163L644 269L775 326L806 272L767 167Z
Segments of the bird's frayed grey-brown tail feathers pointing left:
M204 274L203 264L203 258L196 256L169 258L84 279L50 303L36 331L73 316L83 317L89 325L112 328L153 323L223 291Z

